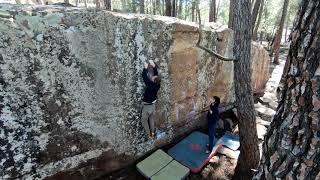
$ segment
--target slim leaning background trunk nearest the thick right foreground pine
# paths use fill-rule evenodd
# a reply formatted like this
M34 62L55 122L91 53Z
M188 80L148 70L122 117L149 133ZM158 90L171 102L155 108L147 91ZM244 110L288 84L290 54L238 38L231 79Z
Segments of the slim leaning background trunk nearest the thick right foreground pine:
M280 43L281 43L281 38L282 38L284 21L286 19L286 15L287 15L288 5L289 5L289 0L284 0L280 25L279 25L279 29L277 30L276 38L274 41L274 47L273 47L273 51L274 51L273 63L274 64L279 64Z

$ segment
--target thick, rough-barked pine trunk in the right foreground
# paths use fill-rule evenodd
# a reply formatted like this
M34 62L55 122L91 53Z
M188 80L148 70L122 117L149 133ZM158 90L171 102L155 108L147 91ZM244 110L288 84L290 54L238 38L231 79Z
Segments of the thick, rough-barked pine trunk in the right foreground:
M320 179L320 3L301 1L255 179Z

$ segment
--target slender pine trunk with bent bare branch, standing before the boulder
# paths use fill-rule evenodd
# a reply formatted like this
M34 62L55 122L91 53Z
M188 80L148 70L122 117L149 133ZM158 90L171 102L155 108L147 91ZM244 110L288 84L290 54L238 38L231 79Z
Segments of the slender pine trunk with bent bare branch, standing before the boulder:
M240 156L235 179L251 179L259 164L258 135L251 83L251 0L234 3L234 84L239 118Z

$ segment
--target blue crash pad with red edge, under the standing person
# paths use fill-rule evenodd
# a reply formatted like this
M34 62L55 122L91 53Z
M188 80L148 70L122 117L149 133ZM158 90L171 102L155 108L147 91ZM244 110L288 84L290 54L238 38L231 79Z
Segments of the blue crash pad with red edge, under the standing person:
M168 154L192 172L198 173L222 147L220 142L215 143L212 152L206 154L207 143L208 135L195 131L169 149Z

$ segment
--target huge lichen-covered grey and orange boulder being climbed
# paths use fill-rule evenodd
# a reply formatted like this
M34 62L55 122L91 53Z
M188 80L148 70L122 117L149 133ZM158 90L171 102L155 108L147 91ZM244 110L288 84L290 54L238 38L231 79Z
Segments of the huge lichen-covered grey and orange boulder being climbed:
M196 48L197 38L196 24L173 18L0 4L0 176L94 177L205 124L197 113L209 97L234 101L233 63ZM229 29L207 29L202 43L232 55ZM256 91L268 77L264 54L253 46ZM162 77L156 142L140 124L150 59Z

